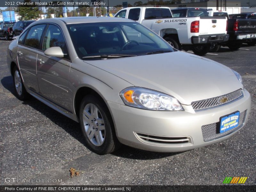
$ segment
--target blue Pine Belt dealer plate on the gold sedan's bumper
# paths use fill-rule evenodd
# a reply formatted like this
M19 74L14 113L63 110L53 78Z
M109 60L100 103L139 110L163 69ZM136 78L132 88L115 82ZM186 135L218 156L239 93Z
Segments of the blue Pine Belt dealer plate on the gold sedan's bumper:
M226 132L238 126L240 112L222 117L220 120L220 133Z

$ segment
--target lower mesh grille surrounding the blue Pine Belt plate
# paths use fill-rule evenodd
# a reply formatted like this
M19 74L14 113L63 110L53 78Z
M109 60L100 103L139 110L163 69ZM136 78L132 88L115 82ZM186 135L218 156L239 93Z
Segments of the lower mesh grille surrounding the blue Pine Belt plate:
M202 133L203 133L204 141L211 141L211 140L223 137L223 136L228 135L229 133L234 132L234 131L238 130L239 128L241 128L244 125L246 112L247 112L247 110L240 113L237 127L230 129L223 133L219 133L220 122L202 126Z

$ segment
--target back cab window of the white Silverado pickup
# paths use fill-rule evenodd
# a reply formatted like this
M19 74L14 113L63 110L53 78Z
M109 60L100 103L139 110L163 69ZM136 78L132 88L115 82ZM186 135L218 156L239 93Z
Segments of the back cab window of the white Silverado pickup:
M169 9L163 8L147 8L145 11L145 19L171 18L172 13Z

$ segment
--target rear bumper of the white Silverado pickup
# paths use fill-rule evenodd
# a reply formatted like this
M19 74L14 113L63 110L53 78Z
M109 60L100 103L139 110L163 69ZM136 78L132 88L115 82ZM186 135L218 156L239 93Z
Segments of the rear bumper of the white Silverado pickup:
M229 39L228 34L222 35L202 35L202 36L192 36L191 42L192 44L210 44L210 43L222 43L226 42Z

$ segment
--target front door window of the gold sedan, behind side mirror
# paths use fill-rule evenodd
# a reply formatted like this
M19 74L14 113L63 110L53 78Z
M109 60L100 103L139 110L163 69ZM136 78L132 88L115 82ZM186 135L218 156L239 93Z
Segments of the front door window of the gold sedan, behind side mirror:
M49 25L44 36L43 51L50 47L60 47L64 55L66 55L64 58L69 59L65 38L60 28L56 25Z

